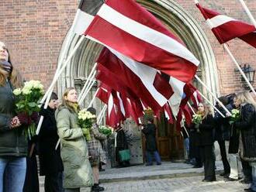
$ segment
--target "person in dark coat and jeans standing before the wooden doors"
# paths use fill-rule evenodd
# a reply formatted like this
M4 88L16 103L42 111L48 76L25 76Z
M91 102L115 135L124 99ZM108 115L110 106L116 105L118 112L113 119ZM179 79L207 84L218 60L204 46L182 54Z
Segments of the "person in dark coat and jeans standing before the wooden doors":
M153 123L153 118L147 119L147 125L143 127L142 132L146 136L146 156L147 156L147 166L152 166L152 154L154 154L154 159L157 161L157 165L161 165L161 157L157 152L157 142L156 142L156 127Z

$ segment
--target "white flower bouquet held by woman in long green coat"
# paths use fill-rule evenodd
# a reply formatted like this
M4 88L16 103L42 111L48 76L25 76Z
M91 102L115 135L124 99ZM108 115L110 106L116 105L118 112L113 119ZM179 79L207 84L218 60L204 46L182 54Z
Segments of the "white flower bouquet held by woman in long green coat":
M85 108L78 112L78 124L81 126L87 141L91 140L90 129L94 118L96 118L96 116L92 115L91 112L86 111Z

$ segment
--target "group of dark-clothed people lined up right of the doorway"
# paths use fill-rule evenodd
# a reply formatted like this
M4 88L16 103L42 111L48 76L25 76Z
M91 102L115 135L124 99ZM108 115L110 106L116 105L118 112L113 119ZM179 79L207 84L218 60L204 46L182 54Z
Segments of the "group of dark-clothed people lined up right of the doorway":
M185 163L193 164L194 168L204 167L203 182L215 181L214 142L217 142L223 162L224 171L220 173L223 180L251 183L251 187L244 190L256 191L256 102L249 91L234 94L233 101L227 97L219 100L228 111L237 109L239 118L230 121L229 113L218 103L216 108L220 112L215 111L214 115L209 105L199 103L196 114L202 115L202 122L185 124L182 128L186 153L189 153Z

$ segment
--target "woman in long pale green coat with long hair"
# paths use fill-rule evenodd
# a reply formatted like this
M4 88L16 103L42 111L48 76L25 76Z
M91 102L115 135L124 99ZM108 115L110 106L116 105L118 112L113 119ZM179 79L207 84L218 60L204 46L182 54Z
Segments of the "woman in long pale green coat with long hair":
M78 94L74 87L64 91L62 104L55 112L57 132L61 139L65 191L77 192L81 187L91 191L92 168L88 160L85 137L78 125Z

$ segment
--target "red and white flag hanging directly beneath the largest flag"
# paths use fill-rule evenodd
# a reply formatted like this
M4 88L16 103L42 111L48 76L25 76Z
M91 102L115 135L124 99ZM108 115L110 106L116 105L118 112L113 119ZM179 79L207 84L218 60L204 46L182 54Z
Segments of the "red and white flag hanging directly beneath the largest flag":
M116 54L121 57L119 53ZM157 74L157 70L154 68L138 64L127 57L122 57L126 62L123 63L123 60L119 60L119 57L105 48L102 50L97 63L111 71L109 73L112 73L112 75L109 74L109 77L114 76L114 81L120 81L126 87L130 87L130 90L147 106L155 112L160 111L161 106L168 101L173 93L170 84L163 80L161 80L161 84L156 83L161 79L159 77L161 75ZM110 84L115 84L115 82ZM111 86L110 84L109 86ZM163 90L162 87L165 87L165 89Z

